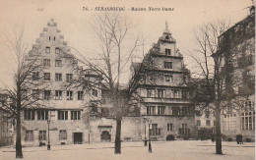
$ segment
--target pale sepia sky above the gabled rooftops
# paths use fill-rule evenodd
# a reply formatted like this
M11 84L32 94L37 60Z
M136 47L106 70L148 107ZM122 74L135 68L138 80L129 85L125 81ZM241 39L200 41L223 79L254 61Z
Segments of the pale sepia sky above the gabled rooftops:
M25 29L24 42L31 49L42 28L54 19L68 44L90 59L96 56L98 46L93 27L94 15L100 13L95 11L96 7L122 7L125 8L122 14L136 26L134 32L139 32L145 39L145 53L158 41L167 21L184 56L184 63L191 69L192 60L185 53L195 47L194 30L218 20L235 24L248 15L247 7L251 4L251 0L0 0L0 87L12 81L11 71L15 63L6 47L6 37L11 38L14 30ZM83 11L83 7L89 11ZM130 11L131 7L173 10L135 12ZM142 57L143 48L138 48L134 54L135 57ZM129 64L126 71L121 82L128 81Z

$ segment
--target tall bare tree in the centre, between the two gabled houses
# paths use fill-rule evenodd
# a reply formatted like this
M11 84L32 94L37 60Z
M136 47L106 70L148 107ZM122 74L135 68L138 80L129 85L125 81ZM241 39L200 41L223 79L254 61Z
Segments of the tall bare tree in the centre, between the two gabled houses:
M109 90L109 96L113 104L114 119L116 121L114 153L120 154L121 120L127 103L122 98L124 96L120 96L123 94L120 78L127 64L129 64L132 54L139 46L139 35L132 35L132 26L128 25L126 19L120 13L96 15L95 22L96 35L101 46L99 53L93 60L89 60L80 52L78 54L81 57L79 61L87 69L85 72L99 76L100 80L96 80L96 82L78 80L77 82L84 89L98 87L98 82L100 82L100 87ZM130 48L128 48L129 46Z

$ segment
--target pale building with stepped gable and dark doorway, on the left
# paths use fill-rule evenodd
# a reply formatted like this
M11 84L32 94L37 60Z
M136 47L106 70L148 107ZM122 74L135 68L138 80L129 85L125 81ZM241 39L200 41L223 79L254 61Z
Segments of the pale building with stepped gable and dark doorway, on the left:
M47 120L50 120L51 144L88 141L86 116L83 111L91 100L100 99L100 89L96 87L85 91L76 83L69 85L80 77L84 80L89 80L89 77L86 77L86 73L78 66L54 20L48 22L47 27L43 28L40 37L32 45L30 54L33 52L40 53L39 58L44 65L42 72L37 74L38 81L45 83L43 90L37 95L41 97L39 101L43 105L32 105L22 113L23 145L47 143ZM32 73L33 77L37 75ZM33 92L42 88L29 89L29 92Z

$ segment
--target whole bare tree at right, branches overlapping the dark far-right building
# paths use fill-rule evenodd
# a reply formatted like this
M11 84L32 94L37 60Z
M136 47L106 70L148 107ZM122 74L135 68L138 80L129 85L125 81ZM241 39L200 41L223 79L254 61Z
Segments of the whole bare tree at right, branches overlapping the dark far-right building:
M248 94L241 96L235 88L241 85L241 79L233 74L240 48L226 48L228 41L220 39L229 25L225 21L207 24L195 31L198 47L190 56L200 72L195 72L198 80L192 81L193 100L201 110L212 110L216 117L216 154L223 154L221 115L228 109L240 110ZM231 46L231 45L230 45ZM226 48L226 51L221 50ZM236 105L234 105L236 104Z

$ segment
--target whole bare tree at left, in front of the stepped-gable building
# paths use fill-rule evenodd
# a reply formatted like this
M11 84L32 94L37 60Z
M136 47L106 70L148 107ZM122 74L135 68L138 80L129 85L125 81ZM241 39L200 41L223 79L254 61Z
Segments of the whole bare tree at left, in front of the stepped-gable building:
M41 59L41 48L33 46L32 51L28 53L23 37L24 29L19 33L16 32L13 40L7 37L7 46L16 61L17 68L12 75L14 84L5 88L8 99L1 101L0 105L0 110L8 114L8 118L13 119L14 123L16 122L16 158L23 158L21 113L27 109L43 108L41 101L44 97L41 94L50 83L40 82L44 76L42 70L45 66L45 62Z

